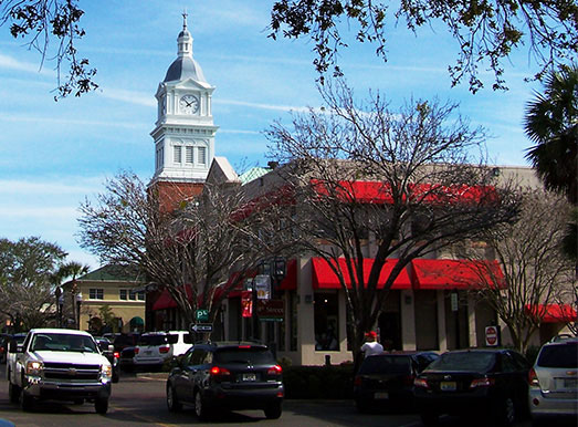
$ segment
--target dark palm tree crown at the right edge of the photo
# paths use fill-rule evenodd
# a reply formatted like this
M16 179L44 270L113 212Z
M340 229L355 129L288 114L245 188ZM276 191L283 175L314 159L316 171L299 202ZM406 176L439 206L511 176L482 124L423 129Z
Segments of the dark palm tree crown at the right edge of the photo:
M526 158L546 188L565 192L578 202L578 67L563 65L545 81L544 94L536 93L526 107L525 132L536 143Z

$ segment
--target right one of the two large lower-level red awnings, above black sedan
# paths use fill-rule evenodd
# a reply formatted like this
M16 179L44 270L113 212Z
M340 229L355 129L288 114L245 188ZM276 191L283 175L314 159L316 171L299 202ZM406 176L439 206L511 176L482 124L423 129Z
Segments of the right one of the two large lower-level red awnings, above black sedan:
M411 261L416 289L482 289L497 283L505 289L504 273L495 260L424 260Z

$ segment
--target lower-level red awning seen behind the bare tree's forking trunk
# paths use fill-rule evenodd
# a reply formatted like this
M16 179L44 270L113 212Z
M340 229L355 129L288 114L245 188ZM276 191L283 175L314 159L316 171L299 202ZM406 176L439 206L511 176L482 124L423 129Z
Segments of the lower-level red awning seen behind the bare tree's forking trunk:
M396 264L396 259L388 259L381 269L379 274L379 281L377 284L378 289L382 289L386 284L393 265ZM327 261L323 258L312 258L313 263L313 288L314 289L339 289L339 279L332 270ZM374 264L372 259L364 259L364 281L367 283L369 279L369 272L371 265ZM344 272L345 282L348 288L351 287L351 281L349 280L349 274L347 273L347 263L345 258L339 258L339 269ZM408 272L406 269L401 270L399 275L393 281L393 287L391 289L411 289L411 281L409 279Z

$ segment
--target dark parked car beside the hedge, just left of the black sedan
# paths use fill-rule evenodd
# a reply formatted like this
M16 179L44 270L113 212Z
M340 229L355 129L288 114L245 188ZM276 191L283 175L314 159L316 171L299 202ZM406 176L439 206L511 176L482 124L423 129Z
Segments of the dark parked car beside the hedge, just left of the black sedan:
M396 352L367 356L354 379L357 410L413 406L413 379L439 355L433 352Z

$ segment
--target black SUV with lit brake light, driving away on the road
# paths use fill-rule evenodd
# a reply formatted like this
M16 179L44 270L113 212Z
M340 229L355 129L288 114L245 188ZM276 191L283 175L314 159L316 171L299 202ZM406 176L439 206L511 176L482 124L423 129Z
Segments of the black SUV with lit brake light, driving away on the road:
M279 418L284 394L281 366L255 343L195 344L167 379L169 410L193 405L199 419L216 409L263 409L267 418Z

